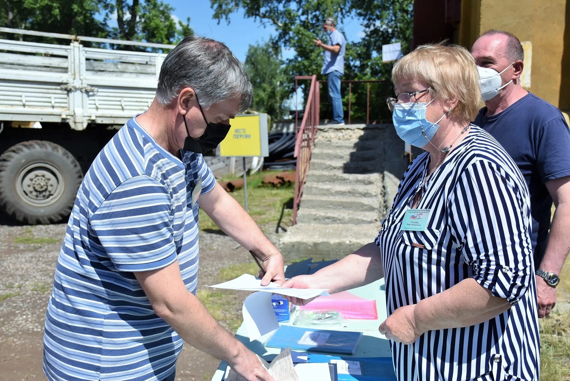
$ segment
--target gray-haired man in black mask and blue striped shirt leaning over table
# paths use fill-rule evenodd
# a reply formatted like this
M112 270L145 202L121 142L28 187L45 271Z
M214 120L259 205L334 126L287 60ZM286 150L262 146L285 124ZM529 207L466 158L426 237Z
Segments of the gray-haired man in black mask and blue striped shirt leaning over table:
M162 64L149 110L99 153L81 187L55 270L44 334L50 381L174 380L182 342L247 381L273 381L196 298L198 208L283 281L279 251L203 160L251 103L222 43L185 38Z

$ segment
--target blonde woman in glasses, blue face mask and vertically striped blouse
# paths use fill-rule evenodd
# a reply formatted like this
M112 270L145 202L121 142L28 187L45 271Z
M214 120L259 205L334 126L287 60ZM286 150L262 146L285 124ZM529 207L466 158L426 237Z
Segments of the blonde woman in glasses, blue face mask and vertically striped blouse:
M425 45L392 80L394 127L426 152L374 242L284 287L339 292L384 277L380 333L398 380L538 380L528 189L504 149L470 124L481 99L475 61L459 46Z

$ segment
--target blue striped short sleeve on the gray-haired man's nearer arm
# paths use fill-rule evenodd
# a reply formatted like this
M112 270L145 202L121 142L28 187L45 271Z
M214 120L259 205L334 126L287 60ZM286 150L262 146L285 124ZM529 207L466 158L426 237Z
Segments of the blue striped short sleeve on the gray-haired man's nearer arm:
M119 185L91 217L91 228L116 269L149 271L177 258L172 198L164 185L136 176Z

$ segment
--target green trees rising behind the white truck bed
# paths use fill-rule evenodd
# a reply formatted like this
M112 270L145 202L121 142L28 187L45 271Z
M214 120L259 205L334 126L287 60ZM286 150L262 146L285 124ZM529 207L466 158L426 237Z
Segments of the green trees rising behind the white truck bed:
M176 44L192 35L190 18L174 22L174 8L161 0L0 0L0 25L51 33ZM14 38L7 34L5 37ZM26 37L36 42L51 38ZM89 46L88 42L84 44ZM93 44L100 46L101 44ZM140 49L133 46L111 48ZM156 50L156 49L153 49Z

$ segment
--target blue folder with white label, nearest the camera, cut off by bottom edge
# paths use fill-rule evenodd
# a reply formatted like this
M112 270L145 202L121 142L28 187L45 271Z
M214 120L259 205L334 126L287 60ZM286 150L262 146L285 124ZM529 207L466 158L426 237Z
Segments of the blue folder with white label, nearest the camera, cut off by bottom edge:
M308 354L310 363L336 363L339 381L396 381L391 357L339 357Z

